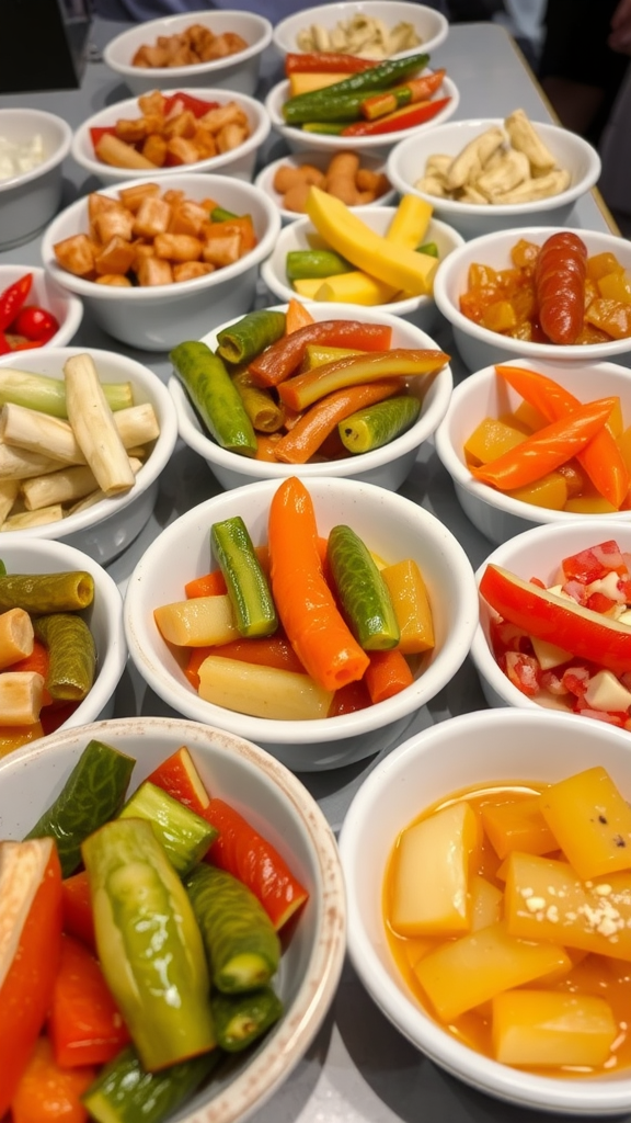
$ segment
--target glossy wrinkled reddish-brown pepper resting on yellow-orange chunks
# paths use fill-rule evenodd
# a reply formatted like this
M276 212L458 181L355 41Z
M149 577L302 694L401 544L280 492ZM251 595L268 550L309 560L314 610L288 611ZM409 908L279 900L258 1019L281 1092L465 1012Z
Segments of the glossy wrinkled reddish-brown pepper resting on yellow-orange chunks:
M574 344L583 328L587 247L571 230L552 234L534 266L539 322L554 344Z

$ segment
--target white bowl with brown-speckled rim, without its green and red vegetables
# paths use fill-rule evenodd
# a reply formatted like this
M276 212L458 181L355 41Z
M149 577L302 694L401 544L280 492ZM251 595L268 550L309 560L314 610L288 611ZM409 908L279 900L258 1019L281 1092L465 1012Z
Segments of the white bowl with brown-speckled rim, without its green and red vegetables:
M275 980L285 1007L281 1021L253 1052L235 1057L228 1071L216 1075L175 1113L179 1123L243 1123L295 1068L336 992L346 943L346 903L333 836L302 784L255 745L195 722L129 718L55 733L1 760L3 838L24 837L60 793L90 738L137 760L130 788L186 745L212 794L246 815L309 889Z

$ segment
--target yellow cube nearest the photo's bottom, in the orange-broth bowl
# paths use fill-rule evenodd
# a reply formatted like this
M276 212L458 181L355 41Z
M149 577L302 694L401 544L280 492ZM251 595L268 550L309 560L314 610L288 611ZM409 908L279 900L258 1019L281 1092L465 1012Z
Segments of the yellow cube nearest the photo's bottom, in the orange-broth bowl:
M493 999L493 1056L503 1065L600 1068L616 1035L604 998L560 990L507 990Z

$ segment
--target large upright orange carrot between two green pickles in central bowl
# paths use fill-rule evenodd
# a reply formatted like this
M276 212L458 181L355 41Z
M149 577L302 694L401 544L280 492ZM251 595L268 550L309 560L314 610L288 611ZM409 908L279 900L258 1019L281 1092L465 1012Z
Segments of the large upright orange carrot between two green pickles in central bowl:
M296 476L274 493L268 545L276 610L307 673L331 691L362 678L369 659L324 581L313 503Z

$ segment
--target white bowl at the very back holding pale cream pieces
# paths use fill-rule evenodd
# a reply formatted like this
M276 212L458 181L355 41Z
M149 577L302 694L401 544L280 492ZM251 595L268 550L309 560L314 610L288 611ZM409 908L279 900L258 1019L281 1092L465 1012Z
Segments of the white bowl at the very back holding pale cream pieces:
M449 24L445 16L426 4L404 3L399 2L399 0L387 0L387 3L383 3L382 0L356 0L356 2L342 0L339 3L303 8L301 11L294 12L293 16L287 16L274 28L274 44L284 55L300 52L296 42L299 31L313 25L330 31L340 21L346 22L357 15L381 19L388 30L392 30L396 24L412 24L421 43L417 47L399 52L392 56L394 58L404 58L405 55L413 55L419 51L427 51L430 54L441 43L445 43L449 31Z

